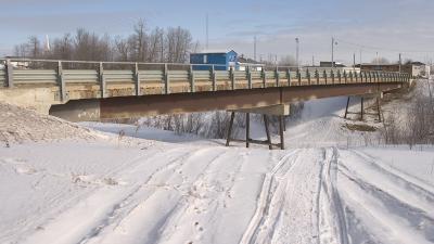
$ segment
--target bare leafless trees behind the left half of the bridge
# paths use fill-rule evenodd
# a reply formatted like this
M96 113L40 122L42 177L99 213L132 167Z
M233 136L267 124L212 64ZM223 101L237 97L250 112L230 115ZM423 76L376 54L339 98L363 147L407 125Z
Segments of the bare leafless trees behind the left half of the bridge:
M148 63L184 63L193 44L190 30L181 27L149 29L139 21L127 37L99 35L85 28L74 34L46 40L30 36L25 43L15 46L18 57L78 61L129 61Z

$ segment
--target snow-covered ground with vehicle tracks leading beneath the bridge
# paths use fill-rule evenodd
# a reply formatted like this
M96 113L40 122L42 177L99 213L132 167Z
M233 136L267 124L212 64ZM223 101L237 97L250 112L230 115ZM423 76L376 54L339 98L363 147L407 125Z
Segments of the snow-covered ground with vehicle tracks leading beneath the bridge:
M111 124L0 147L0 243L434 243L434 147L350 146L345 102L306 103L284 151Z

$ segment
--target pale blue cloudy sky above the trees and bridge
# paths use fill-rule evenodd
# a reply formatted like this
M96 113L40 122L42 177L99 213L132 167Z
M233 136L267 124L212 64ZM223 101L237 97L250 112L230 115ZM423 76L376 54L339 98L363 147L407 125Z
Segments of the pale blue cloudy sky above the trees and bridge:
M29 35L43 38L85 27L112 36L127 36L139 18L150 28L181 26L205 44L209 16L209 48L233 49L253 56L295 55L311 63L331 60L331 38L337 39L335 59L352 63L385 56L429 62L434 59L434 0L0 0L0 55Z

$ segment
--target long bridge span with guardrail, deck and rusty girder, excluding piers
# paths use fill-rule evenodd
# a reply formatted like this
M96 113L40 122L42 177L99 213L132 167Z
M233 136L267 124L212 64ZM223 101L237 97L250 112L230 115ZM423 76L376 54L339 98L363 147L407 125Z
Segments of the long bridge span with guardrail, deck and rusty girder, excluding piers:
M68 120L251 110L340 95L381 94L407 86L404 73L217 65L0 60L0 101ZM201 70L196 70L201 69Z

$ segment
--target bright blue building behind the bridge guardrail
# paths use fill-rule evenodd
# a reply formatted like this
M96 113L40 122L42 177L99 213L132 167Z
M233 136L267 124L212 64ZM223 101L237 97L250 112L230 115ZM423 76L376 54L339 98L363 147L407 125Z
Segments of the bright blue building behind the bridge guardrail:
M226 51L202 51L199 53L190 54L190 64L193 65L194 70L208 70L212 65L215 65L216 70L229 70L235 67L238 62L238 54L233 50Z

